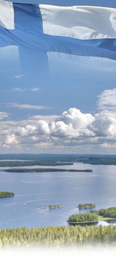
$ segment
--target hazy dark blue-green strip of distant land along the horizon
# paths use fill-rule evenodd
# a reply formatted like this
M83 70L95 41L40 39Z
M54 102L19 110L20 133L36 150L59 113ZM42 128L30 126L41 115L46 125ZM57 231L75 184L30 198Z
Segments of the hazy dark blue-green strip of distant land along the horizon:
M116 155L95 155L95 154L0 154L0 160L20 161L2 161L0 167L9 166L33 166L33 165L71 165L71 162L83 162L84 164L94 165L116 165ZM32 160L30 162L30 160ZM29 161L29 162L25 162ZM57 161L62 161L57 162Z

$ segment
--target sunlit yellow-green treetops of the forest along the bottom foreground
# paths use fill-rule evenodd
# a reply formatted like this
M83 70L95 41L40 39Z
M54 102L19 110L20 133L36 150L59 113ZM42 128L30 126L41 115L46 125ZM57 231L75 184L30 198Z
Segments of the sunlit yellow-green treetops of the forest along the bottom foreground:
M116 226L6 228L0 230L0 247L32 247L43 245L116 245Z

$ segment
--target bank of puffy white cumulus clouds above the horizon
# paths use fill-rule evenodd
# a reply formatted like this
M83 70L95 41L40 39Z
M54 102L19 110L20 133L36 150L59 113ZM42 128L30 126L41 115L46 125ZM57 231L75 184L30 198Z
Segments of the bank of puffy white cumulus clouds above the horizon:
M105 90L98 97L97 114L70 108L62 115L35 115L21 121L8 120L0 112L0 142L4 150L18 152L115 152L116 89ZM15 104L12 107L40 109L41 106ZM3 120L3 118L6 118Z

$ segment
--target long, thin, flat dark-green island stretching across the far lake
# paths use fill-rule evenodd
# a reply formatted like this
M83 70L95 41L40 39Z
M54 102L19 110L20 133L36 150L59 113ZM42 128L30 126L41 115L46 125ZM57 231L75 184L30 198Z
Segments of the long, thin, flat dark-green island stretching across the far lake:
M5 172L93 172L91 169L56 169L56 168L14 168L14 169L3 169Z

